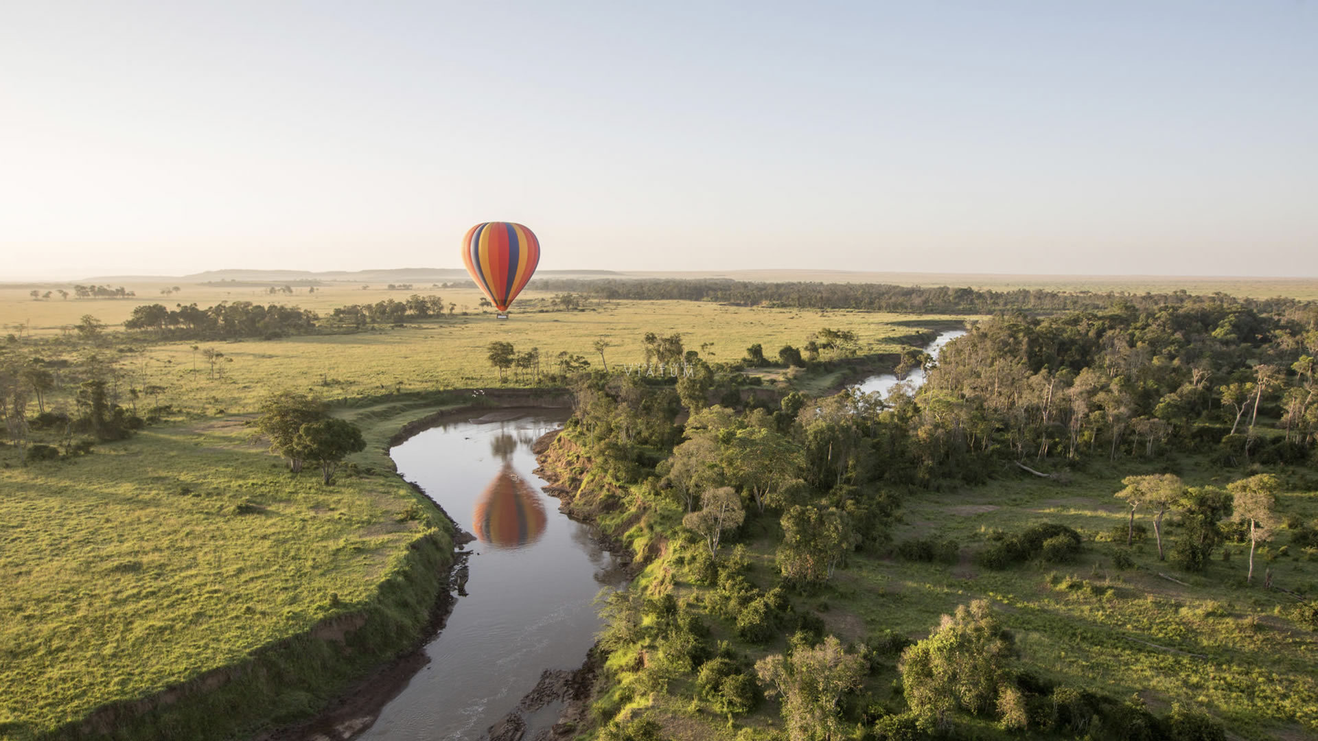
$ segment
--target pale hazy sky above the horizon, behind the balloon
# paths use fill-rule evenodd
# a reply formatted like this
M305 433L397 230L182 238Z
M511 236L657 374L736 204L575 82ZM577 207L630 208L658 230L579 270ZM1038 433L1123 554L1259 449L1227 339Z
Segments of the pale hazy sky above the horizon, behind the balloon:
M1318 5L11 0L0 280L1318 276Z

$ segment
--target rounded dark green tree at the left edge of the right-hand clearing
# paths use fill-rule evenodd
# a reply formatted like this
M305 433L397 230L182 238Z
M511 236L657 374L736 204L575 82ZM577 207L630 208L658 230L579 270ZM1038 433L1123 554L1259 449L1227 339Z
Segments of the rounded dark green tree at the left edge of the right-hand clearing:
M795 505L782 518L783 542L775 559L783 579L797 584L818 584L833 578L833 570L859 541L851 518L837 508Z

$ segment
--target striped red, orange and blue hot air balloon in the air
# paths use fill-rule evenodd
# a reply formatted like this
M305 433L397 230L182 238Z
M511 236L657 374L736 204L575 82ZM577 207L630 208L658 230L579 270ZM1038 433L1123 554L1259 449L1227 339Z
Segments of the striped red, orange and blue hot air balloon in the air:
M476 285L507 319L507 307L526 287L540 261L540 241L531 229L511 222L485 222L463 237L463 262Z

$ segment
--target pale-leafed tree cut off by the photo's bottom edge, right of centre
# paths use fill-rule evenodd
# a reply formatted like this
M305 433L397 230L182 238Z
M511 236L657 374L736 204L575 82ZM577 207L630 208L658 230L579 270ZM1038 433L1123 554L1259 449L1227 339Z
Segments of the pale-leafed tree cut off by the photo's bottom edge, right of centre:
M782 696L783 720L792 741L833 741L846 734L842 697L859 690L865 659L847 654L836 636L818 646L797 646L755 662L767 697Z

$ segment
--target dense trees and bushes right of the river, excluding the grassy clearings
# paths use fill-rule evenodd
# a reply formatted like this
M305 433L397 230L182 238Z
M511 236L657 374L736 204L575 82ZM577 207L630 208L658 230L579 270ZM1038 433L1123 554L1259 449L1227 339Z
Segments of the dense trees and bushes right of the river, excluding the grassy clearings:
M685 357L680 340L664 348L647 335L645 344L679 359ZM1255 551L1281 527L1281 484L1272 475L1251 476L1248 467L1315 459L1315 355L1311 305L1265 310L1210 298L1114 302L1056 316L1003 312L950 343L937 363L913 359L928 364L927 385L899 386L887 398L854 390L746 396L731 377L741 364L767 363L755 345L731 365L697 353L699 372L689 378L580 374L564 434L564 450L580 452L567 459L568 475L587 469L579 490L600 492L604 501L680 513L656 516L651 537L667 543L664 574L676 570L675 579L701 588L692 601L664 603L672 595L656 599L655 587L645 599L609 597L613 649L646 659L597 707L606 721L602 737L658 734L645 717L609 721L610 703L697 676L696 696L724 712L747 712L764 696L780 700L788 736L803 741L837 738L857 720L869 724L871 738L938 737L953 732L958 715L1017 732L1223 738L1219 723L1186 708L1159 717L1137 697L1032 675L1016 663L1010 632L983 603L962 607L915 645L895 639L853 651L796 613L791 595L832 581L857 551L954 562L954 542L891 542L891 522L912 492L1004 471L1028 475L1020 468L1057 477L1091 460L1140 459L1145 468L1165 460L1174 468L1173 454L1182 451L1210 454L1228 483L1190 487L1172 473L1130 476L1126 489L1114 492L1130 506L1130 521L1103 539L1128 545L1149 522L1159 559L1189 572L1203 571L1224 543L1243 542L1249 552L1243 576L1256 583ZM1288 527L1297 545L1318 542L1302 523ZM746 578L739 547L728 555L729 541L746 531L778 538L771 587ZM1090 547L1087 538L1040 522L991 533L974 555L990 570L1066 564ZM1114 546L1112 559L1116 568L1131 566L1122 547ZM1056 588L1073 581L1060 579ZM1311 605L1288 610L1298 625L1318 628ZM788 650L753 666L734 646L712 646L701 614L726 621L742 643L787 636ZM904 711L867 717L847 697L866 662L884 653L900 657Z

